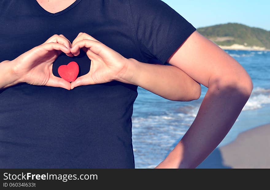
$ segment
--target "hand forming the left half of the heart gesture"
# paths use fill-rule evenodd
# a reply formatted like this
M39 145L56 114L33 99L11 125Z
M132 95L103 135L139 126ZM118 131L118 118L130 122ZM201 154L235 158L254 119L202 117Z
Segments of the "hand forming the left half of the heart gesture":
M70 90L69 82L52 73L52 63L62 52L73 57L70 48L71 43L64 35L53 35L43 44L10 61L13 64L13 74L18 78L18 83L25 82Z

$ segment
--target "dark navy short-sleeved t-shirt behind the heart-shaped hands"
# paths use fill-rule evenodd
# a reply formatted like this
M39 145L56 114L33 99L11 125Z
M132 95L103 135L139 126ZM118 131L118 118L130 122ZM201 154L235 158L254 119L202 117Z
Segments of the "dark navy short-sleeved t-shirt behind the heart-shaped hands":
M0 2L0 61L13 60L54 34L92 35L125 58L165 64L196 29L160 0L76 0L49 13L36 0ZM153 61L154 60L154 61ZM91 61L76 61L79 76ZM68 91L21 83L0 91L0 168L134 168L137 86L112 81Z

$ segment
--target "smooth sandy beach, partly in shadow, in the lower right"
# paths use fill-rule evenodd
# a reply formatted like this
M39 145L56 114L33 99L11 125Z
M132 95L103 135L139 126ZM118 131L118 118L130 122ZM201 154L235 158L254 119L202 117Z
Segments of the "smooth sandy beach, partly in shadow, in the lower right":
M216 148L197 168L270 168L270 124L240 133Z

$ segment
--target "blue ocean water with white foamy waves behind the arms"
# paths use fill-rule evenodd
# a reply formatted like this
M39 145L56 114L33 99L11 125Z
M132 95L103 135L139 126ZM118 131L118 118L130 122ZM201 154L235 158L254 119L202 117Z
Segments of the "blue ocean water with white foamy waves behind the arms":
M249 73L253 91L237 121L218 147L239 133L270 123L270 51L226 50ZM154 168L166 158L189 129L207 88L201 85L198 100L177 102L138 87L132 116L135 168Z

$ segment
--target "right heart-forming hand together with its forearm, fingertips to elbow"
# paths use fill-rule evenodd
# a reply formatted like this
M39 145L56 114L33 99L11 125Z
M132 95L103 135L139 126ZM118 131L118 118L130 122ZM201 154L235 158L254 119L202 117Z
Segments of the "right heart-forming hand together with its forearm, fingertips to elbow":
M91 60L90 72L71 83L71 89L112 80L134 84L166 99L191 101L201 95L201 86L181 69L125 58L91 35L80 32L72 42L71 53L86 51Z

